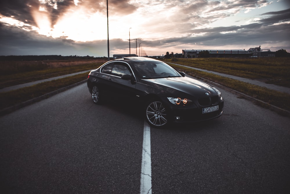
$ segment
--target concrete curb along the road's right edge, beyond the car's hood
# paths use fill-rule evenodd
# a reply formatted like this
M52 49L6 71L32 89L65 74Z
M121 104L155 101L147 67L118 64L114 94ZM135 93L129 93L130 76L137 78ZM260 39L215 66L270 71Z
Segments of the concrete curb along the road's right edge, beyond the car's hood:
M187 74L187 75L190 75L190 76L192 76L192 77L195 77L195 78L197 78L197 79L200 79L200 80L202 80L202 81L204 81L204 82L207 82L207 83L209 83L209 84L211 84L211 85L218 86L218 87L220 87L220 88L222 88L222 89L224 89L224 90L226 90L226 91L229 91L229 92L231 92L231 93L233 93L233 94L235 94L235 95L238 95L239 97L242 97L242 98L244 98L244 99L247 99L247 100L249 100L249 101L252 101L252 102L254 102L254 103L258 104L258 105L259 105L259 104L262 104L263 107L267 107L268 109L270 109L270 110L272 110L272 111L278 113L279 115L286 116L286 117L290 117L290 111L288 111L288 110L284 110L284 109L279 108L279 107L277 107L277 106L274 106L274 105L271 105L271 104L269 104L269 103L266 103L266 102L264 102L264 101L262 101L262 100L255 99L254 97L251 97L251 96L248 96L248 95L246 95L246 94L244 94L244 93L238 92L238 91L236 91L236 90L233 90L233 89L227 88L227 87L225 87L225 86L222 86L222 85L220 85L220 84L218 84L218 83L215 83L215 82L210 81L210 80L208 80L208 79L205 79L205 78L203 78L203 77L199 77L199 76L194 75L194 74L192 74L192 73L186 72L186 74Z

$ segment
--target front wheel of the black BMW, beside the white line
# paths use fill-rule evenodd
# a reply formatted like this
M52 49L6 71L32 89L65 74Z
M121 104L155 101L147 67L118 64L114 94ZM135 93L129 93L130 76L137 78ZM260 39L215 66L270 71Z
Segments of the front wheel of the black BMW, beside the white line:
M166 126L168 123L166 109L159 100L153 100L147 104L145 118L151 126L157 128Z

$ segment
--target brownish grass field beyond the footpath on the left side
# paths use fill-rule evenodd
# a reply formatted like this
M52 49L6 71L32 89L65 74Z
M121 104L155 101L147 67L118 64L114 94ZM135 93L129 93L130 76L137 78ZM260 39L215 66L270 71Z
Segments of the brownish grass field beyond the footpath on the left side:
M104 62L106 61L0 61L0 89L94 69Z

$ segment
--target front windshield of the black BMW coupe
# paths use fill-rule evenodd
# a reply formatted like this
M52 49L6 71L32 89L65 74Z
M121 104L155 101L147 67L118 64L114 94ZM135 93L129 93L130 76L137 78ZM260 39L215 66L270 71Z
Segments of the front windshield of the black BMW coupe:
M141 79L182 77L175 69L163 62L140 62L132 64Z

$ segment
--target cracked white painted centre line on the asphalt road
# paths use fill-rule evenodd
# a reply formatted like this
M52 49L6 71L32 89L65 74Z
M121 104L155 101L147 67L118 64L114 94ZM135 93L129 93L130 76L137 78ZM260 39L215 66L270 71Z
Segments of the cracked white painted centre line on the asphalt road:
M150 144L150 126L146 121L144 121L140 194L152 193Z

